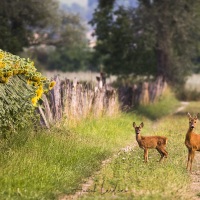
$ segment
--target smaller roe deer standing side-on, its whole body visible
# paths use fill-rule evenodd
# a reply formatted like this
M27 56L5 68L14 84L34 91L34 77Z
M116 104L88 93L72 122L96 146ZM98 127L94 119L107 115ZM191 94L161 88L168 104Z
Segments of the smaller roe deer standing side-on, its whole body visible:
M133 122L133 127L135 128L136 140L140 148L144 149L144 161L148 161L148 149L156 149L161 158L159 162L165 157L167 158L168 152L166 151L167 138L163 136L141 136L140 132L143 128L144 123L142 122L140 126L136 126Z

